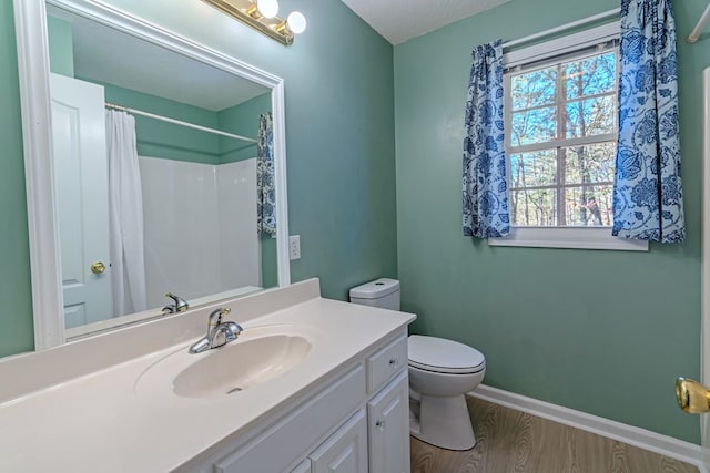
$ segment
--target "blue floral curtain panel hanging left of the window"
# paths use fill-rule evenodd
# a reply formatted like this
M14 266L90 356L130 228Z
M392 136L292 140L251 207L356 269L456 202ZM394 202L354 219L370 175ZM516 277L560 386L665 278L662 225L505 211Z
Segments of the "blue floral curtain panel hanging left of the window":
M503 47L474 48L464 135L464 235L510 233L503 141Z

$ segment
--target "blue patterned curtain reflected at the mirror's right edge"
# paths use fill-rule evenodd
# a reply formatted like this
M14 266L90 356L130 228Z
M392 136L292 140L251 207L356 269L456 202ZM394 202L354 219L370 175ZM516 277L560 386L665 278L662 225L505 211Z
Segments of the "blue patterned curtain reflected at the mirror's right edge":
M271 112L258 116L256 152L256 229L276 236L276 192L274 183L274 131Z

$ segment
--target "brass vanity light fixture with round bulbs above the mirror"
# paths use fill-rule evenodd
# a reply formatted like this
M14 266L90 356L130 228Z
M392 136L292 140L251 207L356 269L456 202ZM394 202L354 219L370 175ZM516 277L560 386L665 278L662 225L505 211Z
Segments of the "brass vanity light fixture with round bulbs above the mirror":
M286 45L293 43L294 34L301 34L306 29L306 18L300 11L292 11L285 20L276 17L278 0L203 1Z

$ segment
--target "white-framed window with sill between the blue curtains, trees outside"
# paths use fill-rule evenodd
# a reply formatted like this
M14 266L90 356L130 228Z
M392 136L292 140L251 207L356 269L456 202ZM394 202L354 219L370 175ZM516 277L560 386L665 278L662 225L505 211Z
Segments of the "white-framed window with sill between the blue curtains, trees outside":
M493 245L647 249L611 236L618 23L506 54L510 237Z

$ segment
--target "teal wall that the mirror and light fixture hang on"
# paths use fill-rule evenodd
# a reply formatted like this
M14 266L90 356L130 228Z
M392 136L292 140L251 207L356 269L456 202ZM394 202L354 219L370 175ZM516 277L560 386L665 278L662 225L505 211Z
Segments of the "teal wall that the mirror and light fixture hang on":
M2 2L0 72L4 158L0 161L0 352L32 347L27 213L11 2ZM393 48L343 3L283 0L308 30L284 47L193 0L111 0L114 7L241 58L285 81L290 228L302 258L292 280L322 278L323 295L396 276ZM118 101L118 100L116 100ZM6 105L7 104L7 105ZM8 143L8 144L6 144ZM7 185L6 185L7 182ZM273 241L272 241L273 243ZM273 256L273 255L272 255ZM4 261L10 264L6 265ZM7 291L7 294L6 294Z

